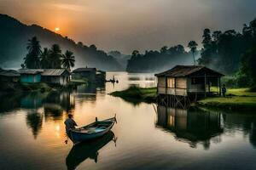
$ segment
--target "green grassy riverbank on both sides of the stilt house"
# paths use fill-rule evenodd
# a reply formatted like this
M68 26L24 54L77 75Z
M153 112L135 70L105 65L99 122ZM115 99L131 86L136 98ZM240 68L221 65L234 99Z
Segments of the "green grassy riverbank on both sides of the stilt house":
M156 101L156 88L131 87L124 91L113 92L110 95L120 97L131 103L154 103ZM227 97L208 97L198 100L194 105L201 107L214 107L219 109L248 110L256 109L256 93L248 88L228 89Z

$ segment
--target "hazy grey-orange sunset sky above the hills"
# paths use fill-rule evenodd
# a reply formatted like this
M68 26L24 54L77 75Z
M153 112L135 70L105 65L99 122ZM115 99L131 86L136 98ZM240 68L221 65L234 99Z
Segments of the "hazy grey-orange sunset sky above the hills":
M255 0L0 0L1 14L125 54L201 43L204 28L241 31L255 8Z

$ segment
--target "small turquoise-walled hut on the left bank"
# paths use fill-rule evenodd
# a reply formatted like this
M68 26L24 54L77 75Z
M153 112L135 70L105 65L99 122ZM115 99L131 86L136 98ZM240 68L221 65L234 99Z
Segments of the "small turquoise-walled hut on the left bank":
M20 69L20 82L41 82L41 69Z

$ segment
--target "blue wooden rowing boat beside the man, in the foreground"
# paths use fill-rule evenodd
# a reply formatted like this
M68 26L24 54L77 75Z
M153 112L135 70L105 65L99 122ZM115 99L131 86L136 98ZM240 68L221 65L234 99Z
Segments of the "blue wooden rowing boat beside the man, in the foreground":
M80 142L99 138L108 133L115 122L117 122L116 115L103 121L98 121L96 117L96 122L72 129L70 131L70 139L73 141L73 144L79 144Z

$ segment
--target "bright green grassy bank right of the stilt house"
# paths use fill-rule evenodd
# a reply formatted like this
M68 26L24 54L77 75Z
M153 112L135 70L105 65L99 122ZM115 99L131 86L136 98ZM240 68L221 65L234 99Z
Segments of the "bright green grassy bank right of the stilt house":
M212 97L198 101L201 106L235 110L256 109L256 93L249 92L249 88L227 89L227 97Z

